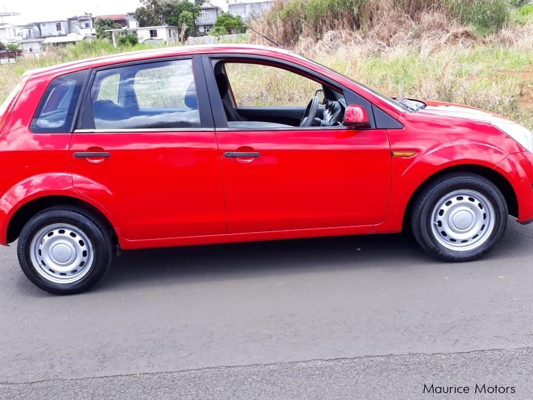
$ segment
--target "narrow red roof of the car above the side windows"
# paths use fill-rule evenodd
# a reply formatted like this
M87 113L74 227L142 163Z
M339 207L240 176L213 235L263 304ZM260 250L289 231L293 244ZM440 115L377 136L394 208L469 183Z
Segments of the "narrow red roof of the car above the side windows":
M292 54L289 50L282 48L273 48L264 45L244 45L244 44L223 44L223 45L185 45L169 48L157 48L150 50L137 50L135 52L108 54L106 56L94 57L92 59L83 59L78 61L70 61L52 65L50 67L43 67L36 70L28 70L23 76L43 76L47 74L57 74L59 72L74 72L79 70L86 70L88 68L101 67L105 65L114 65L118 63L129 63L134 61L142 61L147 59L160 59L169 56L186 56L194 54L220 54L220 53L245 53L265 55L271 54L273 56L285 56Z

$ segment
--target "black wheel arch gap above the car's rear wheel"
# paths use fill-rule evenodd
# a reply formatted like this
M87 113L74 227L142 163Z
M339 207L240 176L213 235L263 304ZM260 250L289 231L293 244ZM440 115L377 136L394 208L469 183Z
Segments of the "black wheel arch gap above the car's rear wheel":
M34 198L33 200L30 200L29 202L26 202L25 204L21 205L21 207L19 207L19 209L17 209L17 211L13 213L8 222L8 227L6 231L7 242L11 243L17 240L24 225L34 215L40 213L44 209L48 209L49 207L61 205L76 207L89 212L94 218L97 218L99 222L104 224L105 227L109 229L109 232L111 233L113 238L114 246L119 245L118 233L112 222L109 220L107 215L103 211L101 211L101 209L98 209L98 207L94 206L93 204L90 204L89 202L86 202L85 200L81 200L80 198L64 195L41 196L38 198Z

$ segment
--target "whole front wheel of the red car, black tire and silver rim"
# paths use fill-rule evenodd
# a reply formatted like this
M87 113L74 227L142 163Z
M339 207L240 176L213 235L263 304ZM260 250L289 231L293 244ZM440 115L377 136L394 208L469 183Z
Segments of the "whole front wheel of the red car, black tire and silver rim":
M474 173L432 182L415 200L411 227L420 246L446 261L476 260L501 240L508 208L501 191Z

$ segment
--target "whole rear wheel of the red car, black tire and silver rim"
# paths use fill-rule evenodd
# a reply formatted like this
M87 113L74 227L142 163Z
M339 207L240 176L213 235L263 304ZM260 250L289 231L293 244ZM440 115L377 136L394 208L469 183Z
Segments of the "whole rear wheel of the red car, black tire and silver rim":
M52 207L23 227L18 256L23 273L39 288L70 295L92 288L113 260L107 227L76 207Z

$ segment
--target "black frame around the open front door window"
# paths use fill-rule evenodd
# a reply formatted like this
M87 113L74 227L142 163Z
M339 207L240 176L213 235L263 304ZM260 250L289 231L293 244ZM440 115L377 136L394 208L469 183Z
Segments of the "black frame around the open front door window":
M282 68L282 69L289 70L289 72L293 72L293 70L302 71L305 73L305 74L302 74L302 76L306 76L306 74L309 76L313 76L313 78L315 78L314 79L315 81L335 88L338 92L342 92L342 94L345 97L346 97L346 94L350 94L351 96L354 96L355 98L357 98L356 104L362 105L361 103L364 103L363 106L365 107L368 115L370 116L371 127L365 128L362 130L387 129L387 128L382 128L382 127L377 127L377 123L376 123L375 116L374 116L374 110L373 110L373 107L375 107L375 105L373 105L373 103L366 100L366 98L364 98L360 94L353 92L353 90L348 89L348 87L345 87L344 85L341 85L336 81L333 81L331 78L317 74L317 72L310 70L308 67L298 65L291 61L278 59L276 57L262 56L262 55L256 55L256 54L242 54L242 53L204 54L202 55L202 59L203 59L203 65L204 65L204 72L206 74L207 90L209 91L209 101L211 103L211 110L213 112L213 120L215 122L216 131L270 131L270 130L302 131L302 130L348 130L348 129L353 130L353 127L344 127L344 126L229 128L228 121L226 118L226 113L224 112L224 107L222 106L222 100L220 99L220 95L218 94L218 86L216 85L215 74L214 74L214 64L218 61L231 60L231 59L234 59L234 60L249 59L251 61L258 61L259 63L260 61L268 61L269 63L272 63L273 65L277 64L277 65L280 65L280 67L285 66L286 68ZM293 73L297 73L297 72L293 72Z

